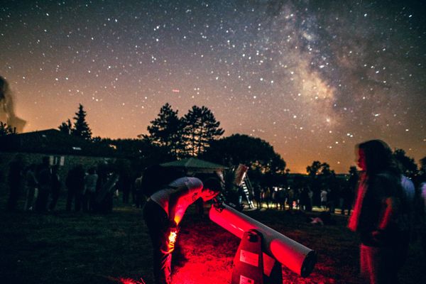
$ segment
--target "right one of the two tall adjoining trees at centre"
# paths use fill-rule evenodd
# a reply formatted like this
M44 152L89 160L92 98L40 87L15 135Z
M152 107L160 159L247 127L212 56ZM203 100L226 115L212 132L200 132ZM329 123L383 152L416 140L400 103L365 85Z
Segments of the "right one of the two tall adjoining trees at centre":
M188 155L197 156L209 148L210 143L224 133L219 128L220 122L216 121L212 111L207 107L194 106L182 119L185 136L186 151Z

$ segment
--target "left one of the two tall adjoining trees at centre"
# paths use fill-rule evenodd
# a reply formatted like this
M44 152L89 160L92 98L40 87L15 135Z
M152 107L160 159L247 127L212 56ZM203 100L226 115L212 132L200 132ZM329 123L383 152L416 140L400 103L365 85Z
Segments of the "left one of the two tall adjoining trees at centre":
M171 155L178 157L182 154L182 121L178 117L178 111L174 111L170 104L161 107L158 117L148 126L149 135L143 135L143 139L154 146L165 147Z

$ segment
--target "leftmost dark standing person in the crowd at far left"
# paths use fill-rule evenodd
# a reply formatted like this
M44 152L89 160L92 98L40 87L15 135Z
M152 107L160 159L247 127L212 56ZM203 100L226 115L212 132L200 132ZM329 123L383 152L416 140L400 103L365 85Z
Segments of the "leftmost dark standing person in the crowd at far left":
M9 164L9 174L7 181L9 185L9 200L7 202L8 211L16 211L18 206L18 198L21 194L23 185L23 158L21 155L16 155Z

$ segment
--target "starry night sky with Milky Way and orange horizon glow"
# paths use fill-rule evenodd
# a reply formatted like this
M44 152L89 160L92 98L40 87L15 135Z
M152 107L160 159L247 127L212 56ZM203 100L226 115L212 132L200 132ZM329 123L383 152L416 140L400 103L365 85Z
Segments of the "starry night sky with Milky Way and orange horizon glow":
M136 138L169 102L263 138L292 173L356 143L426 155L424 1L1 1L0 75L24 131L87 111Z

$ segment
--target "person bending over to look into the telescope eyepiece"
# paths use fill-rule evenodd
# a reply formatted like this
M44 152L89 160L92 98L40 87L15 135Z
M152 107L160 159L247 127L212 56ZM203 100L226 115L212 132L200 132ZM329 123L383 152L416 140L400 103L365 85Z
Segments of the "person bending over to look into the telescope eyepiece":
M185 211L195 200L204 202L219 195L222 186L217 178L178 178L153 193L143 209L153 244L153 271L156 284L170 284L172 252L178 236L178 226Z

